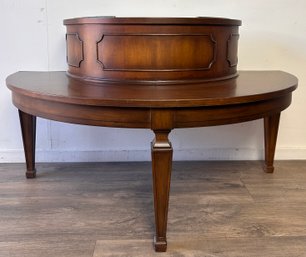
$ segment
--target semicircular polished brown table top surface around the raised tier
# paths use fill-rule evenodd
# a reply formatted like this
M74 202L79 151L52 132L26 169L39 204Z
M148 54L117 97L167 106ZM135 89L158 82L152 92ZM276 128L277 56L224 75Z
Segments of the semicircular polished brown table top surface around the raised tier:
M55 102L116 107L200 107L243 104L288 94L295 76L282 71L240 71L233 79L191 84L94 83L65 72L17 72L7 86L14 93Z

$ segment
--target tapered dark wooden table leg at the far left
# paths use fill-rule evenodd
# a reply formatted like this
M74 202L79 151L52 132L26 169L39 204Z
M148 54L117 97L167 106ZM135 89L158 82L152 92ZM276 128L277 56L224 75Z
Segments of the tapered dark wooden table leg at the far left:
M19 110L19 118L27 166L26 177L35 178L36 116Z

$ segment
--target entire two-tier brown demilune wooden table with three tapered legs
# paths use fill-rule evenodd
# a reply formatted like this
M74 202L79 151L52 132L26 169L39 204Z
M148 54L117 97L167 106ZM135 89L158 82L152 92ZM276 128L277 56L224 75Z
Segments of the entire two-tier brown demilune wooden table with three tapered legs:
M266 172L280 113L297 78L237 72L239 20L75 18L67 26L68 72L17 72L7 86L19 110L26 177L34 178L36 117L75 124L151 129L156 251L166 251L172 165L169 133L264 120Z

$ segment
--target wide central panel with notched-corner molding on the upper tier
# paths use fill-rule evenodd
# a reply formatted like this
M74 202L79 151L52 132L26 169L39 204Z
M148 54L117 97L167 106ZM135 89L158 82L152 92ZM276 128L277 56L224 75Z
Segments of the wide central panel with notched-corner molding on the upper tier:
M210 34L103 34L97 61L108 71L209 70L215 48Z

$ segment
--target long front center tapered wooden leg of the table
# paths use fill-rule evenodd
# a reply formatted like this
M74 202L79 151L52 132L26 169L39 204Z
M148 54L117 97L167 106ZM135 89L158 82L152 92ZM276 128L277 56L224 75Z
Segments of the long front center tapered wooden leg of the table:
M172 168L172 146L168 140L170 131L154 131L152 142L152 173L156 235L154 247L157 252L167 250L167 217Z

